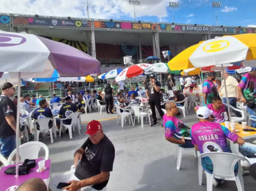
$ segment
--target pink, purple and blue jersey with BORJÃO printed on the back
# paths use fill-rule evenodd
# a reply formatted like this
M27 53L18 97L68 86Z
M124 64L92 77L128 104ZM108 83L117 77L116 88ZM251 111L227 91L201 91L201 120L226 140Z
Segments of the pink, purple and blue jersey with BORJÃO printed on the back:
M206 121L194 124L191 127L191 141L197 145L201 153L204 152L231 152L226 138L236 141L238 135L219 123ZM208 170L213 170L209 157L202 159L202 165Z

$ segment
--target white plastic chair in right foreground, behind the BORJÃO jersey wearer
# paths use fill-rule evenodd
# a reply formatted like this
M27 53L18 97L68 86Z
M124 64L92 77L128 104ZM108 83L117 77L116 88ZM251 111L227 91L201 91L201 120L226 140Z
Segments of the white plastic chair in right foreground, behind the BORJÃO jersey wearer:
M245 157L229 152L206 152L198 157L201 157L201 159L204 157L209 157L213 164L213 174L205 171L207 179L207 191L212 191L212 183L214 178L236 181L238 191L244 191L244 181L240 160L246 160L249 162ZM234 167L237 162L238 172L235 175ZM199 166L198 168L198 171L203 172L202 166ZM203 173L200 174L203 175ZM199 179L202 179L202 176L199 177Z

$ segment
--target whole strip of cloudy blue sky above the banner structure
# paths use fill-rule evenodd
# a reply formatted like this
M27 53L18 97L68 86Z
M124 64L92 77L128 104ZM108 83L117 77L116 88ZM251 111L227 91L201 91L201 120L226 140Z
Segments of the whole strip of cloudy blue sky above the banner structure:
M137 20L173 22L169 2L179 2L175 9L175 23L215 25L212 0L140 0L136 6ZM219 25L255 25L256 0L219 0ZM0 0L0 12L50 15L60 17L87 17L87 0ZM134 7L129 0L88 0L89 17L97 19L134 20Z

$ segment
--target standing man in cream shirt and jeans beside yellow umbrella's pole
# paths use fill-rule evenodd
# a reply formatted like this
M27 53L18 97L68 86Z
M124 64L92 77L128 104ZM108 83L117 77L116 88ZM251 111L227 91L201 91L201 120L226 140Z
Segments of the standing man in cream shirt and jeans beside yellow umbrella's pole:
M226 96L226 91L224 87L224 81L222 82L221 85L221 93L223 96L223 103L227 104L227 98L229 99L229 104L236 108L236 101L240 99L239 95L239 87L238 87L238 82L236 81L236 78L232 77L229 75L229 73L225 70L223 75L223 79L226 80L226 87L227 87L227 93L228 95ZM241 117L241 113L238 111L233 111L234 114L236 114L237 117Z

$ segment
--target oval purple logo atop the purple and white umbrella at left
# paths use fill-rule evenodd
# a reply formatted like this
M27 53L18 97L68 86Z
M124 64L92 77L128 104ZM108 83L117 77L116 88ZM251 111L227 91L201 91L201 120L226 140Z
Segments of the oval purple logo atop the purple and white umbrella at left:
M0 33L0 47L17 46L26 41L22 36Z

